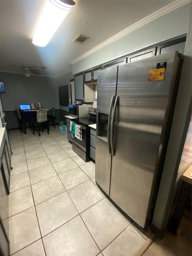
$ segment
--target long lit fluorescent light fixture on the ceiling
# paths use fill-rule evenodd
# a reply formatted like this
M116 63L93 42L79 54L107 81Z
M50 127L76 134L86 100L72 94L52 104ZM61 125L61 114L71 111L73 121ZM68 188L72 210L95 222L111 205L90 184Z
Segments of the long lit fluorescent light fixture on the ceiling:
M47 0L32 43L41 47L46 46L74 5L75 2L72 0Z

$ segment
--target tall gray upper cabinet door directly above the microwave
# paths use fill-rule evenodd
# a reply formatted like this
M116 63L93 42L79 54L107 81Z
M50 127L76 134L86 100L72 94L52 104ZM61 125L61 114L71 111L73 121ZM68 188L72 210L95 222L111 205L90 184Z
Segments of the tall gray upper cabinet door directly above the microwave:
M84 101L84 79L83 73L74 76L75 80L75 100Z

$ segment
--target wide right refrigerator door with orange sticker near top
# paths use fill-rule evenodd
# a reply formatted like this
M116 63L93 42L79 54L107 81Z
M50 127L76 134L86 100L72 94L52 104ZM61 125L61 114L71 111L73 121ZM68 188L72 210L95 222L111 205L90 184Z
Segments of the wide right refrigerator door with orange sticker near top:
M179 62L176 56L174 52L146 58L121 65L118 71L118 122L110 197L143 228L164 143ZM167 62L164 80L148 82L149 71L162 63L160 59Z

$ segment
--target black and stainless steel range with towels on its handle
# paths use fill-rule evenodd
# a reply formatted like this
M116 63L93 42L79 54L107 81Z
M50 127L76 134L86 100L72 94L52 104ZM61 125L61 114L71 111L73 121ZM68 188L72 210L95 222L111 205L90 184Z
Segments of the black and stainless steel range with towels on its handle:
M85 162L91 160L90 158L90 127L88 125L96 124L96 108L89 108L89 117L81 117L72 119L72 121L80 125L82 131L82 140L76 137L72 138L72 148Z

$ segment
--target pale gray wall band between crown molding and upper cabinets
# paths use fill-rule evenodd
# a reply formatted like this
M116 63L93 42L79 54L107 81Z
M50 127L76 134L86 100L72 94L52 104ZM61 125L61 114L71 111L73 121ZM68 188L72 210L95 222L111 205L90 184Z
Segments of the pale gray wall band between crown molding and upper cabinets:
M73 74L187 33L190 4L130 32L72 65ZM86 42L85 42L86 44Z

